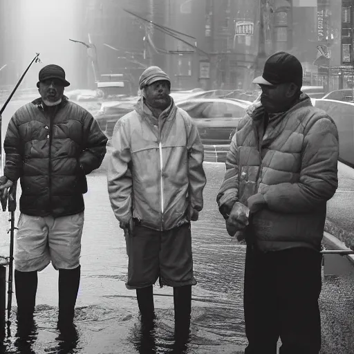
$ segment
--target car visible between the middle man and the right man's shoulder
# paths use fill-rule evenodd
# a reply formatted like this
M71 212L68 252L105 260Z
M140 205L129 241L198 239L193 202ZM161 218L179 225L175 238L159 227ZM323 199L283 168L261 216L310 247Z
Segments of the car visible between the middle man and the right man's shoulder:
M230 134L245 115L247 103L222 98L195 98L178 102L196 122L204 145L228 145Z

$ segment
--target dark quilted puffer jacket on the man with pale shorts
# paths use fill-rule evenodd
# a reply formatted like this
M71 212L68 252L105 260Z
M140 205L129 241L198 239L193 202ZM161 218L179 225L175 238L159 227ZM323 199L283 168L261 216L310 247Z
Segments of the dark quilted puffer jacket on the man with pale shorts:
M3 147L5 176L21 181L20 211L55 217L82 212L86 174L100 167L106 142L93 116L66 97L58 106L43 106L39 98L18 109Z

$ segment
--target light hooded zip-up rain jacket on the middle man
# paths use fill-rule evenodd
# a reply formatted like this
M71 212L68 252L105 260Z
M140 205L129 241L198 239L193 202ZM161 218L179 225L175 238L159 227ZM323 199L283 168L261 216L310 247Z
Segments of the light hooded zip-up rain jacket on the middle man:
M108 191L115 217L170 230L203 209L203 145L189 115L170 106L157 119L141 101L115 124Z

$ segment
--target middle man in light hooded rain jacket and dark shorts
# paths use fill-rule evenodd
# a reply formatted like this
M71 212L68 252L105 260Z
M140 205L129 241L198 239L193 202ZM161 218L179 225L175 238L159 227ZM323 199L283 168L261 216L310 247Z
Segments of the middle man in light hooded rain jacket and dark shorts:
M113 131L108 190L129 236L127 288L136 289L143 322L154 317L153 284L174 288L175 334L187 336L193 276L190 221L203 209L203 145L189 115L169 95L157 66L140 77L141 99Z

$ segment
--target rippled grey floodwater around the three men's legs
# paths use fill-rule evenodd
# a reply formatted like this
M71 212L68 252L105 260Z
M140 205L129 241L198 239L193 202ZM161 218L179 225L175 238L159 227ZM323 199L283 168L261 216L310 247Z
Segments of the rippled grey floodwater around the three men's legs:
M19 103L15 102L8 115L17 106ZM4 115L4 121L8 118ZM124 285L127 279L125 241L109 204L105 166L106 160L100 171L88 176L82 280L75 315L77 342L66 344L57 339L57 272L49 265L39 273L37 334L30 342L20 342L15 337L14 295L10 337L3 343L2 353L177 353L171 288L155 286L153 289L157 315L153 337L143 336L140 330L136 294ZM216 207L224 165L205 163L205 171L208 180L205 208L200 220L192 225L198 284L192 290L192 333L186 353L243 353L247 344L243 322L245 246L227 235ZM7 212L0 214L0 227L0 254L7 255ZM344 277L324 278L320 299L322 354L354 353L353 275L350 270Z

